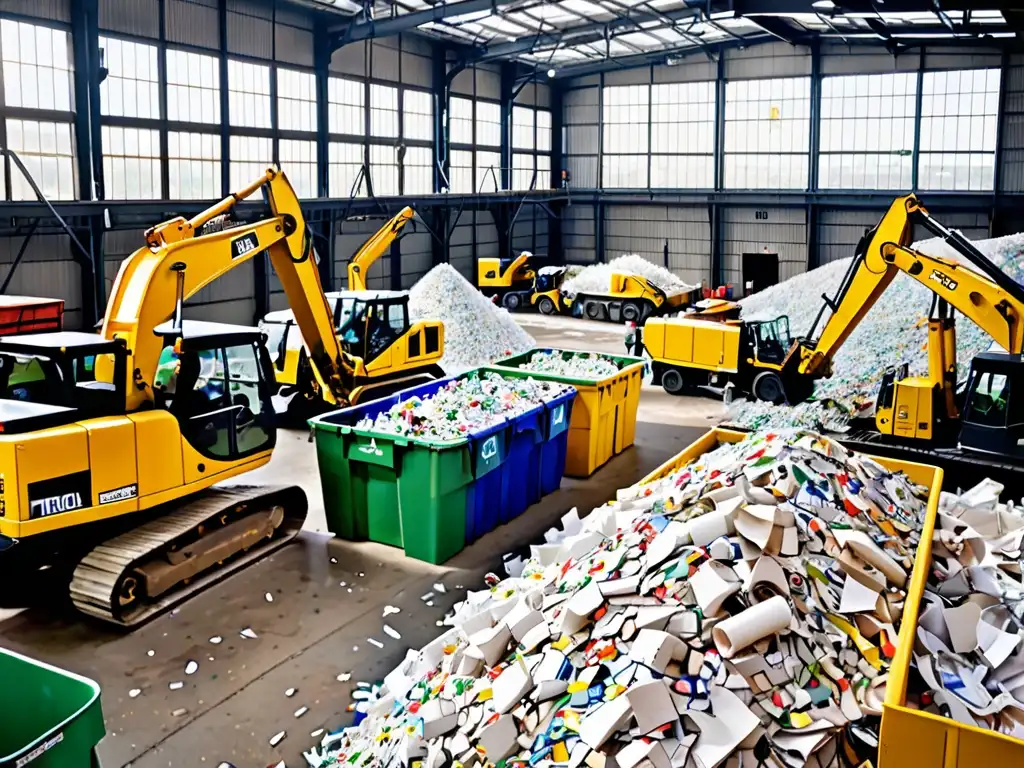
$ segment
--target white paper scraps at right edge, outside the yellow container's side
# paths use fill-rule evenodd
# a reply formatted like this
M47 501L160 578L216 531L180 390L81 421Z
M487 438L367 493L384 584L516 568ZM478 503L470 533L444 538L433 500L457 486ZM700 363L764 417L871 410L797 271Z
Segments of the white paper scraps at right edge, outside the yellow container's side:
M918 617L921 710L1024 738L1024 515L984 480L943 493Z

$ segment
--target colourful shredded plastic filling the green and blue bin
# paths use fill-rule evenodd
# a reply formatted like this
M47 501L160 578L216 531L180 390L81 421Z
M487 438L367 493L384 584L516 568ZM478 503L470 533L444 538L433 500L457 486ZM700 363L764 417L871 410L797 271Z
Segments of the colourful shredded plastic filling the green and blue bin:
M356 429L430 440L459 440L499 424L571 389L557 382L470 374L450 381L434 394L402 400L359 421Z

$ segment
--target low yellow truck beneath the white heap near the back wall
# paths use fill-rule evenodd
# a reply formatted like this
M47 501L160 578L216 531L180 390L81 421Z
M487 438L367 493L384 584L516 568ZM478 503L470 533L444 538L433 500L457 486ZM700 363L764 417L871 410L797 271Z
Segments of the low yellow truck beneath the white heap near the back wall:
M684 309L695 300L697 291L699 289L669 295L639 274L612 272L606 292L580 292L574 295L563 292L562 300L575 317L642 323L652 315Z

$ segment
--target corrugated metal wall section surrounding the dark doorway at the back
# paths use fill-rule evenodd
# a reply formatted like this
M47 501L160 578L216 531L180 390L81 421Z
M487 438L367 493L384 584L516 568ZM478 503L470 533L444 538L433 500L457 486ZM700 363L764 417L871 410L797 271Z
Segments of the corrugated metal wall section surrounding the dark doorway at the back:
M807 268L807 215L796 208L726 208L722 211L725 282L742 287L744 253L778 254L779 282Z

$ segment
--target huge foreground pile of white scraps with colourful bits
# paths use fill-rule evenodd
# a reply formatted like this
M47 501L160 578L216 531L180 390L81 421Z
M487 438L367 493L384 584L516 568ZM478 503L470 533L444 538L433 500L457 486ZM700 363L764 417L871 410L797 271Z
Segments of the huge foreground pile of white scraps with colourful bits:
M924 493L811 432L722 445L572 510L306 758L877 764Z

